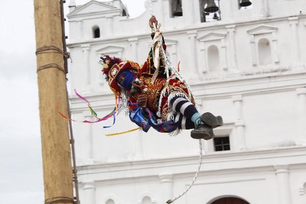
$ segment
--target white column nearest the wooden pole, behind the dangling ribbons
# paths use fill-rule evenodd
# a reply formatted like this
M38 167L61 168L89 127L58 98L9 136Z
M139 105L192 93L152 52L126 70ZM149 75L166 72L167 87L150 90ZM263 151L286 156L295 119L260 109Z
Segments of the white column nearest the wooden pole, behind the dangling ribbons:
M93 117L90 115L90 116L85 116L85 120L93 120ZM92 125L89 124L89 125L86 125L84 127L84 135L83 137L85 138L84 139L84 144L83 144L83 157L85 159L85 163L88 164L88 163L93 163L93 140L92 140Z

